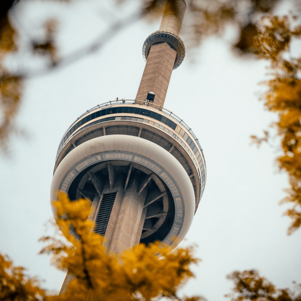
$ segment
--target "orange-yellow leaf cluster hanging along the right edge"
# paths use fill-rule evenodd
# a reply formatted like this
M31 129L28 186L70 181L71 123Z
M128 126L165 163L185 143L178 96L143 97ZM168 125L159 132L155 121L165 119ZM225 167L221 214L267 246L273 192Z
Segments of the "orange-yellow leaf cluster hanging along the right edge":
M271 79L263 82L268 89L261 100L268 111L278 115L271 126L280 138L281 155L276 161L290 184L287 197L280 202L292 203L284 213L292 219L288 234L301 225L301 55L292 57L289 53L291 41L301 38L301 26L293 27L292 21L288 17L263 18L254 39L258 56L270 61ZM264 131L261 139L251 138L260 144L269 140L269 133Z

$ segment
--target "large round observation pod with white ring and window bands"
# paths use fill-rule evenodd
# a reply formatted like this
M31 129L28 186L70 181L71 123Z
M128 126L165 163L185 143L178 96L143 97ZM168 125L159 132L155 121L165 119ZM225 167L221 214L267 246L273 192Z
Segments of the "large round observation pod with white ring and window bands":
M182 240L203 195L206 164L191 128L156 104L109 101L78 117L60 142L52 194L62 190L71 200L84 197L97 207L103 196L124 193L133 175L139 179L138 195L147 188L142 202L145 219L135 242L159 239L172 245L175 237ZM185 196L186 190L190 196Z

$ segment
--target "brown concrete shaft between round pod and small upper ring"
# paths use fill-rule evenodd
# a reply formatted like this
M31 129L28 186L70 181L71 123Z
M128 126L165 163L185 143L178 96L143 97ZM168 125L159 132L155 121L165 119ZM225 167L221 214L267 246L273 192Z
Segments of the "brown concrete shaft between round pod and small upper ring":
M144 100L152 91L155 93L154 104L164 105L176 56L176 50L166 42L150 48L136 100Z

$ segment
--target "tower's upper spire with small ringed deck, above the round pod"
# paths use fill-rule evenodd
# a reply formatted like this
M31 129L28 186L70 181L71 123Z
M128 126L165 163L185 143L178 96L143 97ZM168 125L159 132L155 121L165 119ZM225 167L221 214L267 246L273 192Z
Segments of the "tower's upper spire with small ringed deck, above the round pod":
M184 0L168 0L159 31L146 38L142 49L146 65L136 102L146 100L161 107L164 105L172 71L185 57L184 43L179 37L185 10Z

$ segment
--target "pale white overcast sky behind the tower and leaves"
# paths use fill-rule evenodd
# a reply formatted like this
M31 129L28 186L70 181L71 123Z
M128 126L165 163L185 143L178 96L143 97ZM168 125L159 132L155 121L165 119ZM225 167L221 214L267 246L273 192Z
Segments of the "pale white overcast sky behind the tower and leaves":
M21 13L18 22L30 27L47 14L66 15L59 36L65 53L97 36L104 15L106 22L112 20L97 4L79 2L59 13L61 4L30 7L31 21L22 21ZM50 266L47 256L37 255L42 247L37 240L52 217L49 192L60 139L85 110L116 97L135 98L145 66L142 44L159 24L135 23L95 54L26 83L18 123L30 137L15 137L12 158L0 158L0 252L45 279L49 289L58 291L65 274ZM251 134L261 135L276 120L255 95L266 78L265 63L233 57L230 36L209 39L194 57L187 51L165 102L192 127L204 149L207 184L184 242L198 245L202 262L183 292L208 301L226 300L232 286L226 275L234 270L258 269L280 288L301 276L301 230L286 235L290 221L282 217L286 207L278 205L288 187L274 164L278 153L268 145L250 145Z

